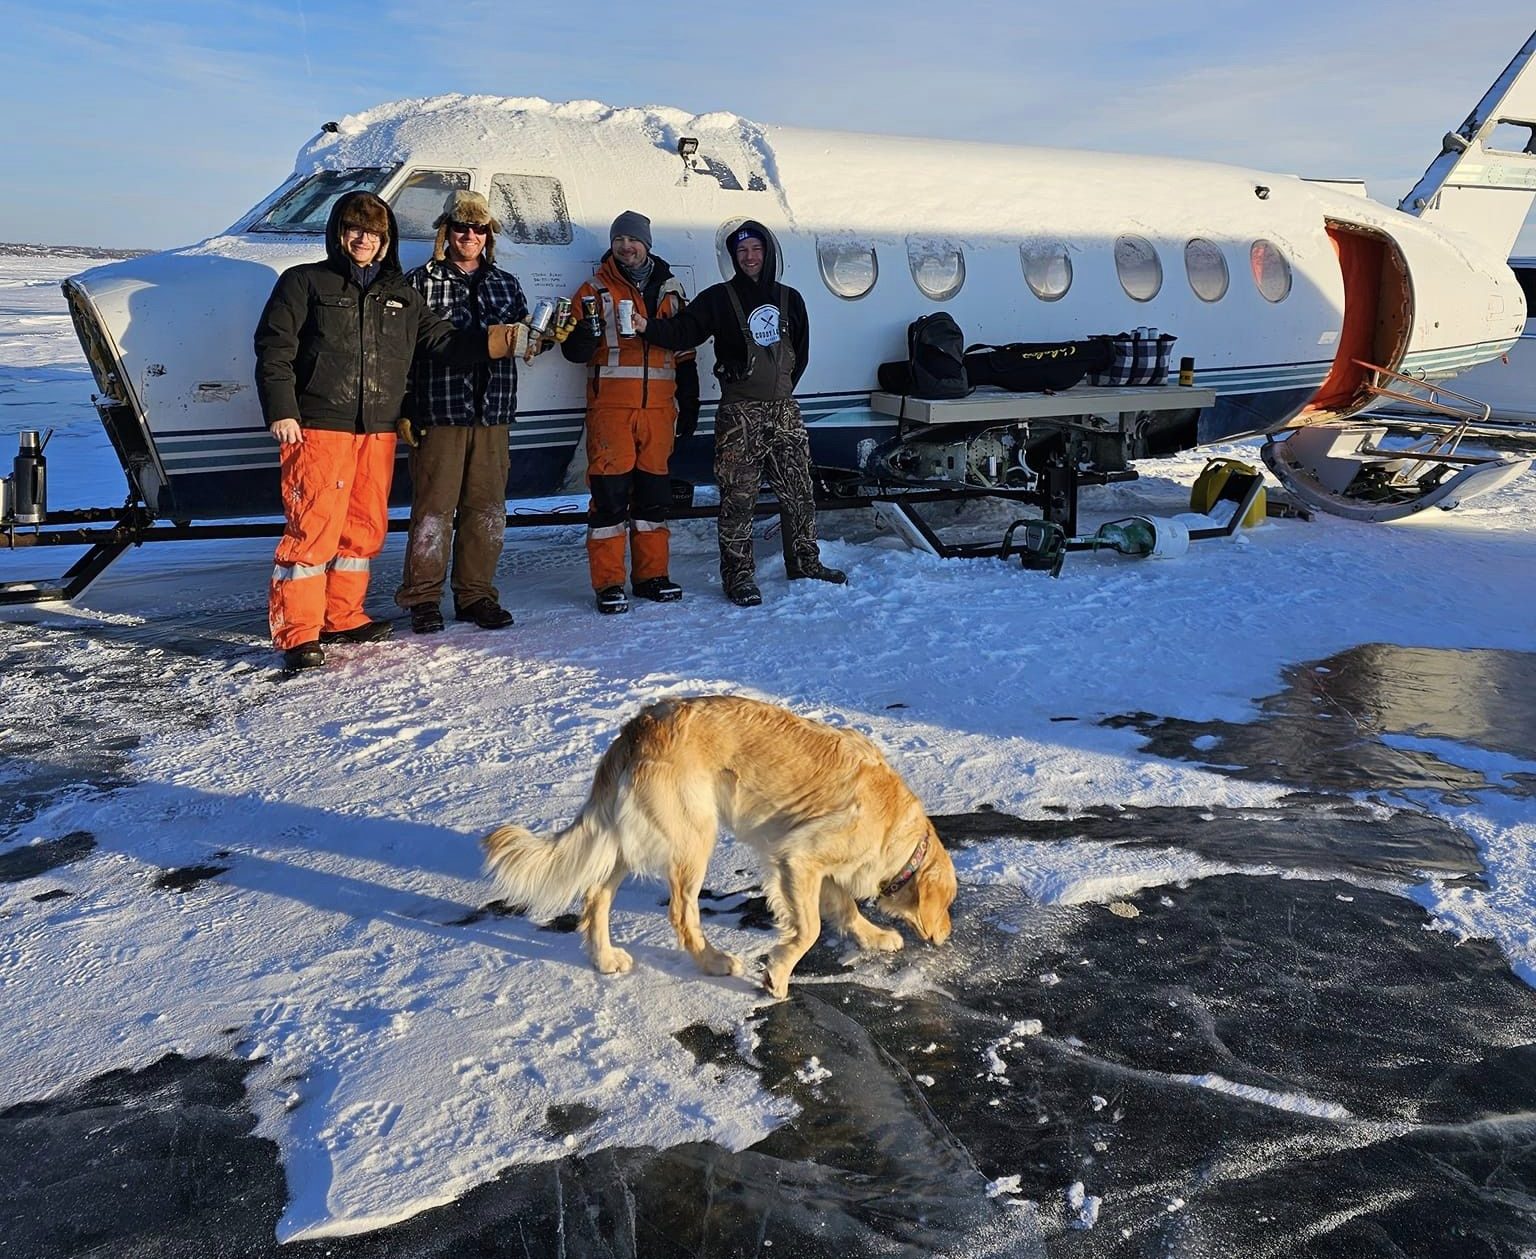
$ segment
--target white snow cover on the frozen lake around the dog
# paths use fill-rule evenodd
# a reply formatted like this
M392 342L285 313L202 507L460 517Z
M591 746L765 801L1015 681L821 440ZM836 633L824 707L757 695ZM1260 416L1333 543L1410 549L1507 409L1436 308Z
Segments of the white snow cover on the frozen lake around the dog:
M0 442L8 456L15 430L58 427L48 450L55 508L123 494L57 290L77 267L0 259ZM1092 499L1095 519L1180 513L1209 453L1146 465L1141 482ZM699 975L654 884L630 883L617 898L614 938L636 955L624 976L596 975L574 934L478 914L493 897L479 835L508 820L564 824L628 715L708 692L868 732L932 812L1272 806L1289 786L1150 757L1134 729L1101 719L1253 720L1284 666L1358 643L1528 651L1533 508L1527 476L1401 525L1272 522L1157 563L1072 556L1060 580L917 554L863 513L826 514L825 556L849 585L788 587L766 539L765 603L753 613L719 597L713 530L690 522L674 533L673 568L687 599L627 617L591 611L578 520L508 537L499 577L513 630L406 633L336 649L323 674L298 680L278 677L258 628L270 542L141 548L74 605L0 613L0 637L51 666L8 679L9 712L83 714L84 729L92 715L131 712L123 732L137 737L121 783L54 795L8 837L15 848L84 831L98 848L43 880L0 884L0 1105L169 1052L258 1062L250 1102L290 1193L283 1239L375 1228L571 1148L743 1148L783 1122L790 1102L745 1067L697 1062L677 1032L731 1035L750 1061L751 1019L768 998ZM35 576L55 556L0 556L0 567ZM375 568L379 613L401 556L393 534ZM184 622L229 651L183 649ZM98 626L143 633L124 643ZM1531 772L1530 760L1470 743L1412 743L1495 783ZM1485 883L1425 877L1393 891L1439 929L1496 941L1536 983L1536 805L1499 789L1416 803L1475 838ZM1111 907L1144 889L1276 872L1177 846L1015 838L955 860L960 909L1009 886L1037 903L1120 912ZM224 872L152 889L163 871L198 864ZM756 877L751 855L722 841L708 886L739 897ZM34 903L43 889L71 895ZM720 947L766 947L762 932L720 923L710 926ZM911 946L860 957L839 981L917 993L942 983L942 961ZM1041 1035L1037 1019L1015 1023L980 1069L1001 1076L1008 1046ZM800 1078L825 1070L811 1056ZM1327 1101L1220 1076L1187 1082L1347 1118ZM548 1109L571 1104L598 1118L556 1133ZM992 1185L1008 1195L1018 1179ZM1094 1227L1100 1199L1081 1182L1068 1205L1077 1227Z

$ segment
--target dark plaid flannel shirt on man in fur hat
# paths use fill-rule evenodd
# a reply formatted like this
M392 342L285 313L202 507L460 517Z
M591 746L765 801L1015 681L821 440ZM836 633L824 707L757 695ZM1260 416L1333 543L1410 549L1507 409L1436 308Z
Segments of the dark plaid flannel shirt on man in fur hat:
M511 272L481 263L475 301L470 276L447 259L430 261L406 276L427 306L456 329L515 324L528 316L522 286ZM472 309L473 307L473 309ZM410 418L418 427L511 424L518 418L518 356L458 370L430 358L410 368Z

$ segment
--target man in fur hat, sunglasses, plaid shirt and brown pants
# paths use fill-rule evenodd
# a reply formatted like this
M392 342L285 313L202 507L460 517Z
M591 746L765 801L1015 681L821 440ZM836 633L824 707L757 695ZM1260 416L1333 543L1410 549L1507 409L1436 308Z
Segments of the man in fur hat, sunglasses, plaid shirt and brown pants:
M456 329L527 318L522 286L496 266L501 224L478 192L450 192L436 221L432 261L406 283ZM421 359L412 373L410 539L395 602L418 634L442 630L442 583L453 559L453 616L481 630L511 625L496 591L507 536L507 428L518 410L518 358L468 368Z

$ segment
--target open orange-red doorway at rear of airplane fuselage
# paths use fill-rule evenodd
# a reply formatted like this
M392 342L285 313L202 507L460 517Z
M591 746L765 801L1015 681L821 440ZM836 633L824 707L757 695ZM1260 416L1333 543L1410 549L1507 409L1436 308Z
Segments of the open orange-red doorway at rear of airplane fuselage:
M1409 345L1413 287L1396 243L1379 232L1330 221L1329 240L1344 276L1344 325L1333 367L1296 424L1347 416L1370 399L1369 362L1396 372Z

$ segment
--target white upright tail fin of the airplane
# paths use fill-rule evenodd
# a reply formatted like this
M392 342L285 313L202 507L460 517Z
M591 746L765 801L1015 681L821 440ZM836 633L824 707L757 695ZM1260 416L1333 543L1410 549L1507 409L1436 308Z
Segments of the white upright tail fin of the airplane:
M1398 209L1496 246L1507 258L1536 198L1536 34Z

